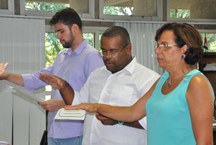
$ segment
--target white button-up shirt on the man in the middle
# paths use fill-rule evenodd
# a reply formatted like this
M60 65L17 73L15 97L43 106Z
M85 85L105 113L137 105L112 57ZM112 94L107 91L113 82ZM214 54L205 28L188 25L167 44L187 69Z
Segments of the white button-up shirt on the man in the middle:
M156 72L137 63L136 58L114 74L102 67L91 73L80 92L75 92L73 104L98 102L131 106L158 78ZM145 128L145 118L139 122ZM119 124L103 125L95 114L88 113L84 122L83 145L147 145L146 130Z

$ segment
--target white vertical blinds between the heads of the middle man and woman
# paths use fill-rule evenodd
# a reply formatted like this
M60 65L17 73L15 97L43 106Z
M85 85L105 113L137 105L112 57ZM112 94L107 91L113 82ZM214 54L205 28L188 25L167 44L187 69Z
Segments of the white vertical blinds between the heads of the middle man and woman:
M154 37L161 24L118 22L115 25L128 30L132 43L132 53L138 62L161 74L163 70L159 67L154 53Z

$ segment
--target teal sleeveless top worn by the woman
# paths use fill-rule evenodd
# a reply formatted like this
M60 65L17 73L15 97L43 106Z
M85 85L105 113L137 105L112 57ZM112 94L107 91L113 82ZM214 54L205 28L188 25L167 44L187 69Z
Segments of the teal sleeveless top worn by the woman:
M186 92L191 78L198 74L202 73L190 71L165 95L161 89L169 74L163 73L146 103L148 145L196 145Z

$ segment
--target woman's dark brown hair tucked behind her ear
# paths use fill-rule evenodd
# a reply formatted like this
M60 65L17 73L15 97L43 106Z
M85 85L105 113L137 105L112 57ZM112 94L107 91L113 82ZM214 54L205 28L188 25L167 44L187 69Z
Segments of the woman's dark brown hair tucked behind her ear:
M203 53L202 37L192 25L187 23L166 23L157 30L155 41L158 41L161 34L166 30L173 31L178 47L188 46L184 59L187 64L194 65L200 61Z

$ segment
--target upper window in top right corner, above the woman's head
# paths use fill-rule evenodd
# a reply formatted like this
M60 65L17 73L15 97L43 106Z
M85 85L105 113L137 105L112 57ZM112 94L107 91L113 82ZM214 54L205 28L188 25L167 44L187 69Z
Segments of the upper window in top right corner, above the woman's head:
M207 21L216 19L215 0L168 0L168 20L190 19L190 21Z

